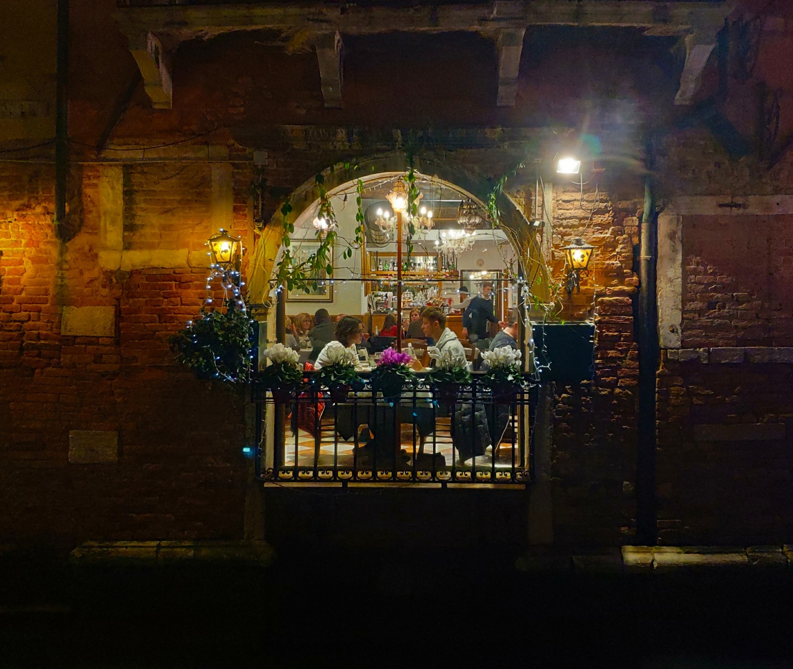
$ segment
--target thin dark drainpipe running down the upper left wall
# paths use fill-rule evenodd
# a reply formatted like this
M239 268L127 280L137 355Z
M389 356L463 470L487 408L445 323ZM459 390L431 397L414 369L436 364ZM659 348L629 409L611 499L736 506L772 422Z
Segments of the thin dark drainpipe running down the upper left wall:
M57 13L55 226L56 234L63 237L69 173L69 0L58 0Z

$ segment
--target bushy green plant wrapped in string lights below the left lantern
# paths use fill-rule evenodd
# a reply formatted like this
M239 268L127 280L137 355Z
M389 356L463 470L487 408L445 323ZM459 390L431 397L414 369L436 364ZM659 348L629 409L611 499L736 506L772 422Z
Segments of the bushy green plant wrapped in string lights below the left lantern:
M232 300L225 306L225 311L201 308L201 315L168 341L198 378L246 384L251 377L251 316Z

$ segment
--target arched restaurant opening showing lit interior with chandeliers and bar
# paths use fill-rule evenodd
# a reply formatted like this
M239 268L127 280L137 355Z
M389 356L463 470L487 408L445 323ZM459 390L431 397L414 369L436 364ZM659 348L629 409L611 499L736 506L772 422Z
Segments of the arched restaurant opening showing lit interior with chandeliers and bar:
M282 414L271 405L274 434L263 463L266 478L340 484L379 480L523 484L527 480L529 393L515 390L506 400L496 399L499 396L477 375L483 373L481 354L496 335L511 332L512 350L521 349L531 338L531 331L528 336L525 331L525 309L523 319L515 319L521 305L525 307L522 290L531 264L531 226L504 193L498 197L501 216L494 225L488 220L487 182L453 168L431 170L434 165L416 161L411 173L421 199L416 215L401 223L405 232L408 222L416 227L412 248L406 241L402 244L401 264L389 194L406 175L404 156L328 169L320 180L306 182L293 193L290 254L299 264L316 251L320 230L330 225L322 220L329 204L336 234L332 272L312 277L307 288L274 285L282 248L270 248L270 255L261 260L262 266L269 266L266 289L278 292L285 322L295 327L291 344L285 341L299 350L301 365L318 357L321 362L328 346L312 332L327 323L325 334L338 337L331 326L336 319L343 315L361 319L364 344L356 353L362 362L362 384L347 388L337 401L329 394L331 385L312 383L318 377L309 371L305 389L283 400ZM361 223L363 234L356 235ZM282 231L282 217L274 216L268 228ZM488 313L481 318L471 315L462 300L463 289L468 290L469 300L483 300ZM443 315L442 328L435 335L423 329L425 319L420 314L426 307ZM317 314L312 323L320 310L327 313L321 319ZM420 323L412 319L416 312ZM306 332L304 321L314 330ZM458 384L456 395L442 399L428 368L432 347L447 332L458 340L471 376ZM408 342L403 350L412 354L416 377L400 385L393 396L378 389L367 374L376 369L377 356L400 338ZM524 365L525 360L524 356Z

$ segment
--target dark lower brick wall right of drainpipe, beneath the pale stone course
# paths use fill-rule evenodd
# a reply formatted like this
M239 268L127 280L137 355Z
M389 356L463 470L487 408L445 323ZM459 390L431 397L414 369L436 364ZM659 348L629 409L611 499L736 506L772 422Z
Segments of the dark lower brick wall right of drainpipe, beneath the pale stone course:
M657 378L659 541L789 541L793 351L787 363L722 362L718 349L670 359L677 354L664 355Z

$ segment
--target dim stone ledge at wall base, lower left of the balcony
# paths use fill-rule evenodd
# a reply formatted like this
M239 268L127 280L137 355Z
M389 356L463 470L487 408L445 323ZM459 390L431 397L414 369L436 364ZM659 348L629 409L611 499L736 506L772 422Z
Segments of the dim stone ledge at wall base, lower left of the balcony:
M75 564L259 564L273 561L266 541L86 541L69 559Z

